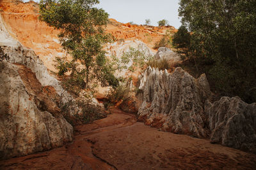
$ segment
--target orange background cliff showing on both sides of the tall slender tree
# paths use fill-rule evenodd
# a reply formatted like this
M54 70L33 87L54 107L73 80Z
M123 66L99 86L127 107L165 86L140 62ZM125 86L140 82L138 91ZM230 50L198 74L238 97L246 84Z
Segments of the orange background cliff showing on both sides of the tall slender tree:
M45 66L54 71L54 58L67 55L58 41L58 30L39 20L38 4L29 1L22 3L19 0L1 0L0 13L7 29L13 38L24 46L33 49L42 59ZM152 48L167 30L176 31L174 27L153 27L146 25L122 24L114 19L109 19L107 32L116 39L143 41Z

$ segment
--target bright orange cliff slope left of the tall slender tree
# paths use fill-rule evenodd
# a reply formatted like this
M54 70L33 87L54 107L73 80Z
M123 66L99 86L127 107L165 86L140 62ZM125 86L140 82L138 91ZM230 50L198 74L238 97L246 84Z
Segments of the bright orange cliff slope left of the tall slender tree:
M58 31L40 22L38 4L33 1L22 3L15 0L0 1L1 15L8 31L22 43L32 48L45 66L54 70L54 57L65 55L58 43Z

